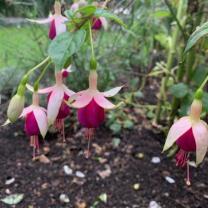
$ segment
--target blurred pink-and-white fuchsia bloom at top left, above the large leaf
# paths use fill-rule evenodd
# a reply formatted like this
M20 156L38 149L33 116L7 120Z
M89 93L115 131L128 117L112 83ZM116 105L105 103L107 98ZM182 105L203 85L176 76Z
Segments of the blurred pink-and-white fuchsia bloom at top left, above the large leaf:
M55 14L49 16L47 19L41 20L31 20L28 19L30 22L35 22L38 24L50 24L50 29L48 36L51 40L53 40L57 35L66 32L66 22L68 19L61 15L61 4L59 2L55 2L54 4Z

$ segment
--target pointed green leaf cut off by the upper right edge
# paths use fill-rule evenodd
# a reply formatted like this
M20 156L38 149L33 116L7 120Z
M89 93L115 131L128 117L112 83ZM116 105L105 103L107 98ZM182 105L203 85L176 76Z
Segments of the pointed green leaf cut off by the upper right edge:
M188 39L184 53L187 53L197 41L208 34L208 22L204 23L202 26L197 27L197 29L192 33Z

